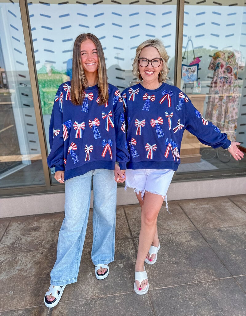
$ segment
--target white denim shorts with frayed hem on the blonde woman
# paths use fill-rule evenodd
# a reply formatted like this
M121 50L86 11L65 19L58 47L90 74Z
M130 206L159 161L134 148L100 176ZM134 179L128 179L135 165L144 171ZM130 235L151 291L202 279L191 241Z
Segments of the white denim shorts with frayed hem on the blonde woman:
M167 206L167 191L172 181L174 170L171 169L127 169L126 186L133 188L136 194L141 192L142 200L146 191L161 195Z

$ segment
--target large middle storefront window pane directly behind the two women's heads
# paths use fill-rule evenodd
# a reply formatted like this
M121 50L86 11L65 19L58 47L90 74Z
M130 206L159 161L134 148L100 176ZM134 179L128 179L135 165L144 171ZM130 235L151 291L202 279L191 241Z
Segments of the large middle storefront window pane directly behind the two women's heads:
M159 5L146 1L50 1L29 3L28 9L47 144L54 96L60 84L71 79L73 43L79 34L93 33L100 39L108 82L120 91L135 81L132 63L136 47L143 41L163 40L174 60L176 1ZM169 83L173 78L174 63Z

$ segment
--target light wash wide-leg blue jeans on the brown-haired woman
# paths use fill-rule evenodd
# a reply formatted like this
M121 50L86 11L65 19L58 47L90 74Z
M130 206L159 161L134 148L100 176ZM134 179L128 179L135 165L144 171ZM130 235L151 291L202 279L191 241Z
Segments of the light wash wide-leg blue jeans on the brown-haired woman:
M91 179L93 179L93 244L94 264L114 260L116 190L113 170L95 169L65 182L65 218L62 222L56 262L50 272L51 285L77 282L87 228Z

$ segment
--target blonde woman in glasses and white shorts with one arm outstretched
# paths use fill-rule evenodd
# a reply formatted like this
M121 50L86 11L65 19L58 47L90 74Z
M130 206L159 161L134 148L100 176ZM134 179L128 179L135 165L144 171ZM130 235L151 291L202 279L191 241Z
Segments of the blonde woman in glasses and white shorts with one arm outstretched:
M134 188L141 207L141 229L135 264L135 293L149 288L144 263L154 264L160 243L157 216L167 207L167 190L180 164L180 144L187 129L200 142L227 149L241 160L240 143L231 142L225 133L203 119L191 100L179 88L165 83L169 57L161 40L146 40L136 49L133 75L140 83L123 91L128 122L126 186Z

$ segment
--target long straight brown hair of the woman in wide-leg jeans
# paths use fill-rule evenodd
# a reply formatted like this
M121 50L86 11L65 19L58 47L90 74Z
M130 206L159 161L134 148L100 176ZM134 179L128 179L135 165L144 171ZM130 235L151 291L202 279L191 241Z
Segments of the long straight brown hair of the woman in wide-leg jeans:
M73 58L72 58L72 80L71 80L71 100L74 105L81 105L85 96L85 89L88 86L88 81L85 76L81 57L80 46L85 40L92 40L97 49L98 55L98 95L99 104L105 104L108 101L108 82L107 70L104 52L100 40L91 33L83 33L77 36L73 45Z

